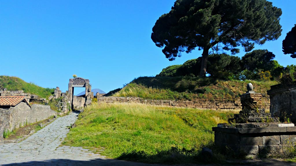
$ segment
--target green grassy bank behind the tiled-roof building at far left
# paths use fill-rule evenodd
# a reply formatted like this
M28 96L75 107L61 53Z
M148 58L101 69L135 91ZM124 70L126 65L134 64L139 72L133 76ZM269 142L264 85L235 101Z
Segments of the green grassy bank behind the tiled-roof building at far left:
M47 98L54 92L54 88L42 88L20 78L5 75L0 76L0 87L7 88L8 91L23 90L25 93L35 94L40 98Z

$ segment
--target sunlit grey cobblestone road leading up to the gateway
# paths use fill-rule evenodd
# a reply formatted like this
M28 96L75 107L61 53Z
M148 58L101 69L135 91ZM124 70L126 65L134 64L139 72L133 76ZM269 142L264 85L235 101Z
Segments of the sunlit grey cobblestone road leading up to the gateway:
M20 143L0 145L0 163L12 164L52 159L90 160L104 158L81 147L61 146L69 132L68 127L77 119L77 113L59 117L51 124ZM29 163L28 163L29 164Z

